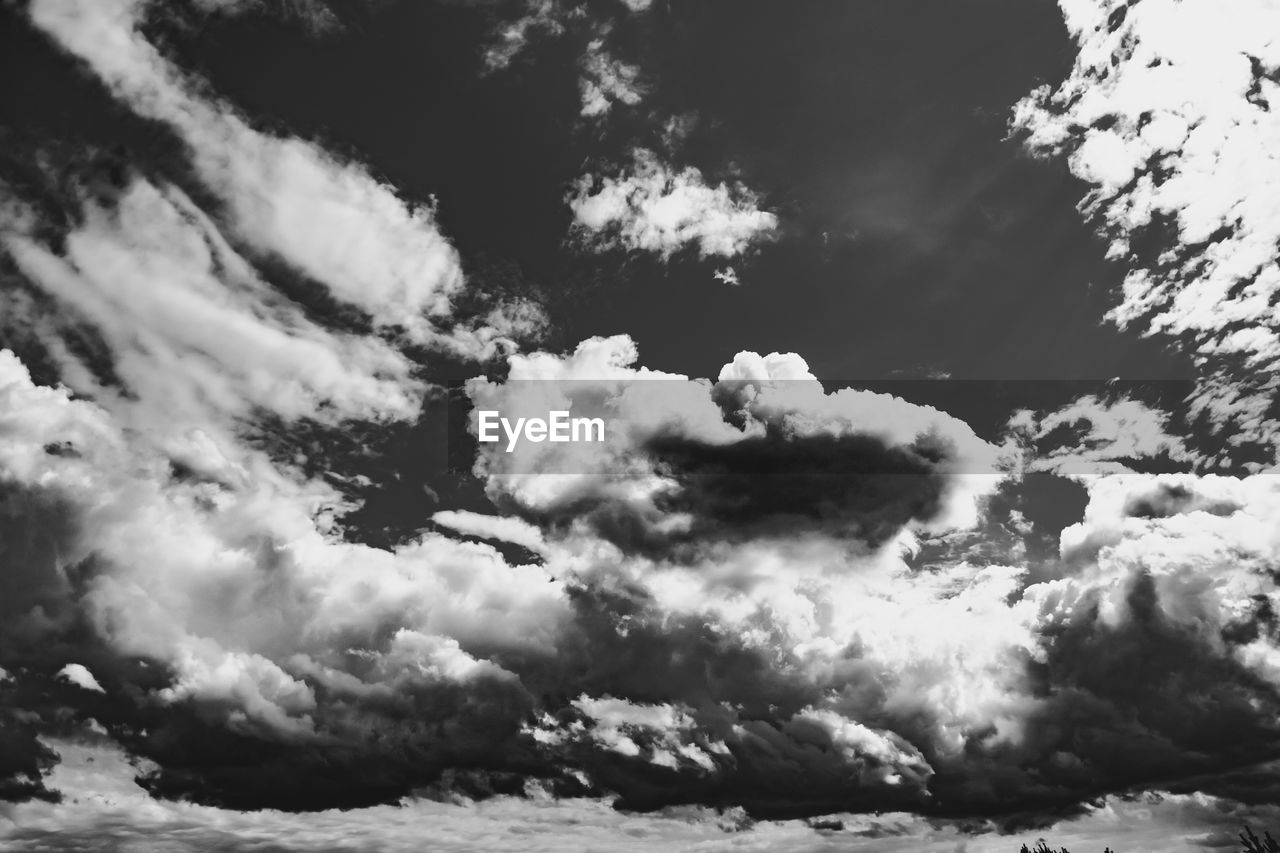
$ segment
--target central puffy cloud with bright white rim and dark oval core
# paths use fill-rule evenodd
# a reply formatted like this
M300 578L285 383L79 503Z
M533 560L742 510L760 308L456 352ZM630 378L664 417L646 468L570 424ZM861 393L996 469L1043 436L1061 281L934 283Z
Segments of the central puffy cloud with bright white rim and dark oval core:
M603 444L481 446L490 498L650 556L819 532L877 548L908 525L972 524L973 488L996 479L998 452L960 421L884 394L826 394L795 355L741 353L714 384L634 359L623 337L594 339L562 360L513 357L509 386L471 383L477 409L605 423Z

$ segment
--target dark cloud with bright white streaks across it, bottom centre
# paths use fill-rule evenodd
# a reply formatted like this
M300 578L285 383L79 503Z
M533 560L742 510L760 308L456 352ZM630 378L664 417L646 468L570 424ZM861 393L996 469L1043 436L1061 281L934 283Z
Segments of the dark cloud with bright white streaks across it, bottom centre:
M636 590L580 588L573 602L554 669L524 678L562 697L544 693L544 760L586 772L617 808L696 803L780 818L927 800L919 752L815 712L822 690L785 651L663 613Z

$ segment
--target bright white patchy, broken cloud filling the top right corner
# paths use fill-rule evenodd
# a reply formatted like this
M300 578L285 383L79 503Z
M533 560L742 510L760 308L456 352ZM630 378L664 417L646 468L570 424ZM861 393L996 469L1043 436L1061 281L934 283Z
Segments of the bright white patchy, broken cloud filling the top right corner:
M1272 4L1062 3L1079 58L1014 127L1094 186L1082 209L1130 264L1108 318L1180 341L1196 357L1197 412L1238 442L1274 443L1272 304L1280 26Z

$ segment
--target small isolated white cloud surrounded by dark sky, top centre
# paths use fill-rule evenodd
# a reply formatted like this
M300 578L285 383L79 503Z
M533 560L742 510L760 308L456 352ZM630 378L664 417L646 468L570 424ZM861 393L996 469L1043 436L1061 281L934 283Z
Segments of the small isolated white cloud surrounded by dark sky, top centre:
M701 257L735 257L769 240L777 216L742 183L708 186L694 167L676 170L646 149L628 170L579 179L570 209L573 228L594 251L653 252L663 260L687 246Z

